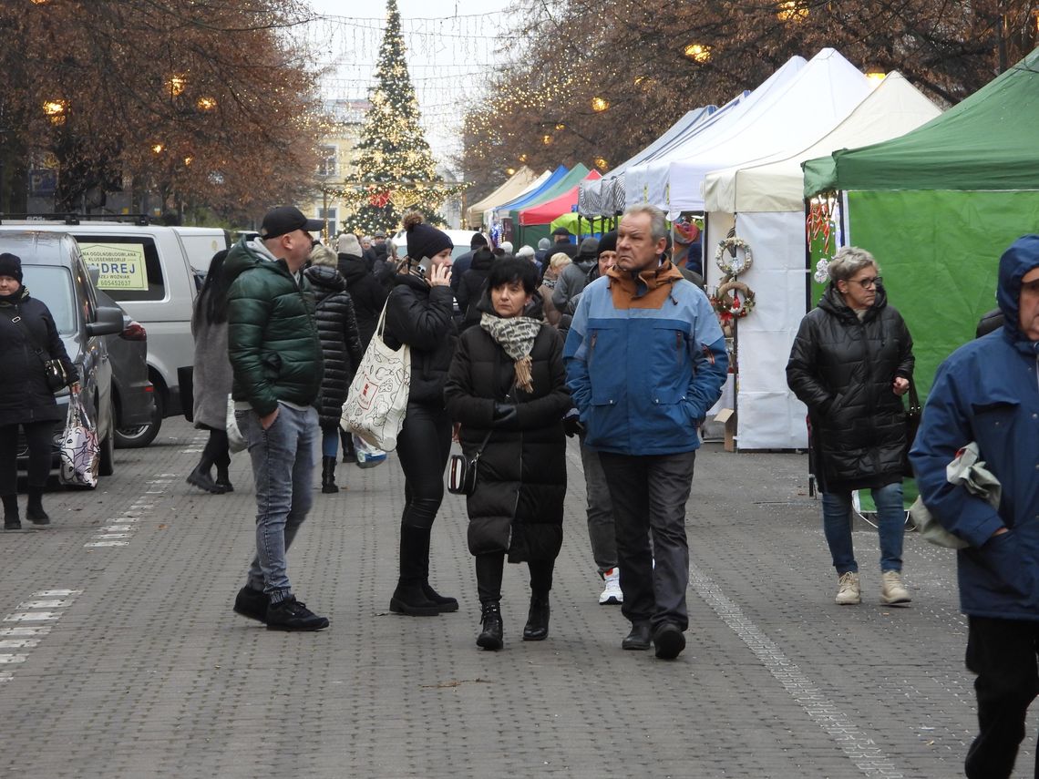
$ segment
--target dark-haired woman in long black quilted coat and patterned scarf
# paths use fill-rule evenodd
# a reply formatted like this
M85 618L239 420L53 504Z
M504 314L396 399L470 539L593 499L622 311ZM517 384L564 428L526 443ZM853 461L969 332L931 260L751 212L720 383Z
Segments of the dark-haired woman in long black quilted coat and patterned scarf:
M563 541L566 438L570 408L563 345L542 322L537 269L527 260L495 261L479 303L478 327L465 330L444 390L472 458L486 439L476 490L467 500L469 549L476 556L482 632L476 643L500 649L502 571L530 567L530 614L524 641L549 635L549 591ZM488 437L489 432L489 437Z

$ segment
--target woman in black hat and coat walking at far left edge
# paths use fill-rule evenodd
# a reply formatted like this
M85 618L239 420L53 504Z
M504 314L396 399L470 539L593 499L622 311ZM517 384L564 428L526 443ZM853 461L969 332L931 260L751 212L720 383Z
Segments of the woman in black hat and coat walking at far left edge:
M20 318L20 319L19 319ZM16 321L18 320L18 321ZM31 334L30 334L31 333ZM37 350L41 354L37 354ZM54 426L63 422L47 385L44 361L59 359L70 383L78 373L47 304L22 286L22 259L0 254L0 496L4 530L21 530L18 512L18 426L29 447L29 505L34 525L49 525L43 494L51 474Z

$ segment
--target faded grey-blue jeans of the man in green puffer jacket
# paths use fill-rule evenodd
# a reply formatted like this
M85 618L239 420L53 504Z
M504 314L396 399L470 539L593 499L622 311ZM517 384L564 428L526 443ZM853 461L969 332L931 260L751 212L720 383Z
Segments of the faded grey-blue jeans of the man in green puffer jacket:
M314 503L318 412L278 404L266 430L256 411L239 411L238 426L248 441L257 490L257 556L247 586L263 589L272 603L292 594L285 554Z

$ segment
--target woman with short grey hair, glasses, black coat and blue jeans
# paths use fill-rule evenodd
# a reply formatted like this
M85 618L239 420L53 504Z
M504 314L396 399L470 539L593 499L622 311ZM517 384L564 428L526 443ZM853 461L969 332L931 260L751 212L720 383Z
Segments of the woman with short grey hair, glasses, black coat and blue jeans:
M880 536L880 600L904 606L902 397L912 377L912 339L887 295L873 256L845 246L829 263L830 285L801 326L787 383L808 407L823 530L840 579L836 602L861 602L852 549L851 491L870 489Z

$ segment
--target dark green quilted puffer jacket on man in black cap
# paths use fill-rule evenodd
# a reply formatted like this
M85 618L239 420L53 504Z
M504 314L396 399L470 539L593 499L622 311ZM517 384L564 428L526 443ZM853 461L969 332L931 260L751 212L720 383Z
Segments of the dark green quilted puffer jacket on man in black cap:
M324 373L314 293L297 285L284 260L273 260L257 239L231 247L223 270L228 292L228 356L232 395L264 417L284 400L313 405Z

